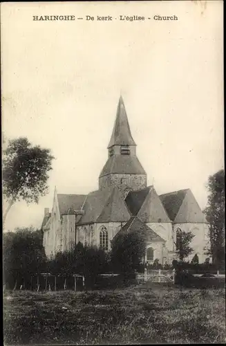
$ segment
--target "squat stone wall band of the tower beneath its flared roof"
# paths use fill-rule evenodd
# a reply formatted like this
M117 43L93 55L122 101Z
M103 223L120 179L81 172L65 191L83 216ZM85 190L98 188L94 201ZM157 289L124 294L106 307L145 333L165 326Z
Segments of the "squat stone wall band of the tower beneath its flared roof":
M122 192L127 188L140 190L147 187L147 176L145 174L108 174L99 178L100 189L111 185L117 185Z

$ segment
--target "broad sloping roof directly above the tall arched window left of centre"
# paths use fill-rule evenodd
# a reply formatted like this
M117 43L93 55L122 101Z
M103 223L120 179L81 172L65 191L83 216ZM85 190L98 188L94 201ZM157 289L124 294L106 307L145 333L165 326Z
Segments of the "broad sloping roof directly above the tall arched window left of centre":
M131 217L122 192L116 186L106 187L88 194L83 206L84 215L78 224L94 222L124 222Z

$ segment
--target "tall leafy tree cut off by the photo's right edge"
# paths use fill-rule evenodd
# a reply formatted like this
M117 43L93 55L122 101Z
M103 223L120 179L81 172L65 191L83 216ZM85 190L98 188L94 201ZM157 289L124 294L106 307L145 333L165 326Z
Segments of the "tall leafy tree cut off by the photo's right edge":
M219 170L209 176L207 207L204 212L209 222L209 255L213 263L225 262L225 171Z

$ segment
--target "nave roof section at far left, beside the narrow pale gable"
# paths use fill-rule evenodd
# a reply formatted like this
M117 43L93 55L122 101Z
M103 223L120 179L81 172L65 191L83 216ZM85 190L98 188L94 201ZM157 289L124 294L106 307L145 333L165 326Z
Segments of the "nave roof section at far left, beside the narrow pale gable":
M57 194L59 212L61 215L71 214L72 210L82 208L86 194Z

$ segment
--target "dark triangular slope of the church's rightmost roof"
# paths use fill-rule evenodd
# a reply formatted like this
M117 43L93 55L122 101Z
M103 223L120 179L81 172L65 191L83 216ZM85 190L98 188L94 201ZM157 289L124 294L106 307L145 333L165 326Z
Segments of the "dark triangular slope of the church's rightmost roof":
M189 189L173 191L167 194L160 195L160 200L162 201L162 204L165 210L167 210L167 214L172 221L174 221L176 215L178 215L178 211L180 209L180 206L182 205L182 201L185 199L188 190Z

